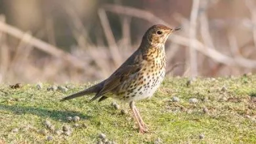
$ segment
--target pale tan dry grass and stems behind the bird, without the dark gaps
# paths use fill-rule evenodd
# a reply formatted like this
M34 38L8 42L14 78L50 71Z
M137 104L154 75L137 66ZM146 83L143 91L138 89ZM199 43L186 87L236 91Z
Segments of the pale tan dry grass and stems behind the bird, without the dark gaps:
M239 18L234 18L236 14L214 18L213 15L218 13L215 9L228 11L221 9L223 5L248 12L243 12L243 17ZM97 22L102 26L106 46L102 45L104 40L101 38L97 38L96 43L92 41L90 29L83 26L81 16L74 7L68 3L62 6L70 20L71 37L77 42L71 52L56 45L54 19L47 20L48 41L45 42L31 35L30 31L22 31L7 24L5 16L0 16L0 82L85 82L104 79L139 46L139 40L134 43L131 39L134 37L131 35L134 29L131 27L132 22L146 20L150 23L148 26L158 23L174 27L169 24L169 20L155 16L148 10L103 5L97 10ZM256 67L255 6L256 3L251 0L194 0L190 17L173 14L174 20L179 23L175 26L181 25L182 31L171 36L167 43L167 71L177 63L184 64L169 71L168 75L194 77L253 72ZM115 27L111 26L108 14L121 17L121 38L114 35ZM12 45L13 41L19 41L18 45Z

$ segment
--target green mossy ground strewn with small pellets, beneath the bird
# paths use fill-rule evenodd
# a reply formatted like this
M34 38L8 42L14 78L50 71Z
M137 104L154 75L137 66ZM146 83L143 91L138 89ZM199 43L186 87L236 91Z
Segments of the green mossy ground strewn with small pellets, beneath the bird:
M64 96L83 90L88 84L74 86L68 92L47 91L50 84L37 90L35 84L12 89L0 86L0 143L96 143L104 133L117 143L256 143L256 75L226 78L198 78L186 85L187 78L165 79L152 99L137 102L150 133L139 134L131 117L121 115L109 98L88 103L91 96L59 101ZM65 85L65 84L63 84ZM224 86L224 88L223 88ZM221 90L223 89L223 90ZM176 96L181 101L172 102ZM190 98L198 103L189 103ZM118 103L118 102L117 102ZM121 104L121 109L128 109ZM203 112L207 107L208 112ZM70 136L56 135L43 122L54 127L74 126L66 117L80 117ZM18 128L18 132L12 132ZM47 129L53 140L39 131ZM203 134L203 139L199 135Z

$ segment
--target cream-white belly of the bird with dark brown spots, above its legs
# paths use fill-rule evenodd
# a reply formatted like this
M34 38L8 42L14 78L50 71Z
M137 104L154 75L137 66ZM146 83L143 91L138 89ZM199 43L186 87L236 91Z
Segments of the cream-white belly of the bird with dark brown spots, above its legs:
M146 75L148 74L148 75ZM142 78L141 78L142 77ZM137 74L131 81L125 82L116 99L123 102L139 101L151 98L165 77L165 69L154 71L154 73Z

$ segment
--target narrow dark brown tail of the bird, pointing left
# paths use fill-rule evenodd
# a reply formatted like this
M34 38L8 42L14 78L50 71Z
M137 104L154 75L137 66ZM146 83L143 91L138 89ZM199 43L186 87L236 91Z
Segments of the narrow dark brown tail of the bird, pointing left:
M90 88L87 88L86 90L83 90L81 92L77 92L75 94L72 94L70 96L67 96L66 98L61 99L60 101L66 101L68 99L74 99L80 96L85 96L87 94L93 94L98 93L103 87L103 82L100 82L99 84L96 84L95 86L91 86Z

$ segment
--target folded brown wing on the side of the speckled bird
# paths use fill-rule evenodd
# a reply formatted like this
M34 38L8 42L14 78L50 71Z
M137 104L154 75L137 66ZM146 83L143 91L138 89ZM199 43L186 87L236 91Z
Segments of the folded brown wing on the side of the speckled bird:
M110 92L120 84L122 84L124 81L129 79L131 75L134 73L137 73L140 71L141 66L139 64L135 65L122 65L113 73L106 81L104 82L104 86L100 92L98 92L91 101L100 98L100 96L103 96L107 92Z

